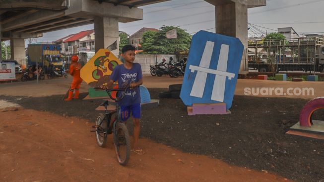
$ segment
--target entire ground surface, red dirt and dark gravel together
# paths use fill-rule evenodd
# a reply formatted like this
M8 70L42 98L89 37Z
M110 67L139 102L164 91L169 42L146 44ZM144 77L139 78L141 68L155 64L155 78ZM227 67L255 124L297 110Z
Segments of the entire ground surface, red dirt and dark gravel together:
M149 84L170 83L159 79L163 84ZM15 84L0 85L0 100L22 106L0 112L0 181L324 182L324 142L285 134L306 99L236 94L232 114L222 116L188 116L180 99L160 99L159 107L142 111L140 146L146 154L132 154L122 167L111 136L100 148L90 132L102 99L62 101L64 79L44 81L36 85L42 91L34 92L35 85ZM86 88L81 91L86 96ZM149 91L158 98L166 89ZM323 111L316 113L315 119L323 118ZM128 128L132 133L131 122Z

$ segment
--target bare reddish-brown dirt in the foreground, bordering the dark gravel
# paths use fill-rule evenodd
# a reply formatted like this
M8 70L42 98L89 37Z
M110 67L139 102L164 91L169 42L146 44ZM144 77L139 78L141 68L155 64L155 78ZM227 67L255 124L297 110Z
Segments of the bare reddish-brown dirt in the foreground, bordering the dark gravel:
M146 154L131 154L122 167L111 136L106 148L98 147L86 119L21 107L0 112L0 118L1 182L288 181L149 139L140 139Z

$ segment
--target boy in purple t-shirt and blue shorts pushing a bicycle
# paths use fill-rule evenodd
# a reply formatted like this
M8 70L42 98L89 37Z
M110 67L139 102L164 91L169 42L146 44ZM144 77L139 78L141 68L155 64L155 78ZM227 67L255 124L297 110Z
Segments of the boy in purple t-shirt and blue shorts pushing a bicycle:
M143 155L144 151L138 147L139 138L139 120L141 113L140 106L140 94L139 87L143 84L142 69L140 64L133 63L135 60L135 47L132 45L126 45L122 49L125 63L117 65L110 76L110 81L107 83L106 88L110 88L114 82L118 81L118 88L125 88L130 86L130 89L126 90L125 96L119 101L121 106L121 120L127 121L130 117L130 113L133 117L133 134L134 143L131 151L138 155ZM119 96L122 92L119 93Z

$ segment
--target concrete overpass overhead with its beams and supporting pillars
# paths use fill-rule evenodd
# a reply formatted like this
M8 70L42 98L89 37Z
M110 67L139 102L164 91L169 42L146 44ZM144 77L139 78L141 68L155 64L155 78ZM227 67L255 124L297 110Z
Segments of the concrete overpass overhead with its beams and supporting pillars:
M24 41L19 39L94 23L99 37L95 39L96 51L116 41L119 47L118 22L141 20L143 10L138 6L162 1L168 0L0 0L0 40L10 39L11 58L15 59L25 54ZM238 37L247 48L247 9L263 6L265 0L205 1L215 5L216 33ZM113 53L119 54L118 50ZM241 71L248 66L245 59Z

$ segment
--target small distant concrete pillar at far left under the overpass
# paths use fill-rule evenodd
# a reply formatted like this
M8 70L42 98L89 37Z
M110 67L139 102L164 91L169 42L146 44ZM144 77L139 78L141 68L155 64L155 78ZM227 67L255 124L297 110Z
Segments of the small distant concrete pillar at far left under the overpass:
M11 59L26 64L25 39L10 39Z

